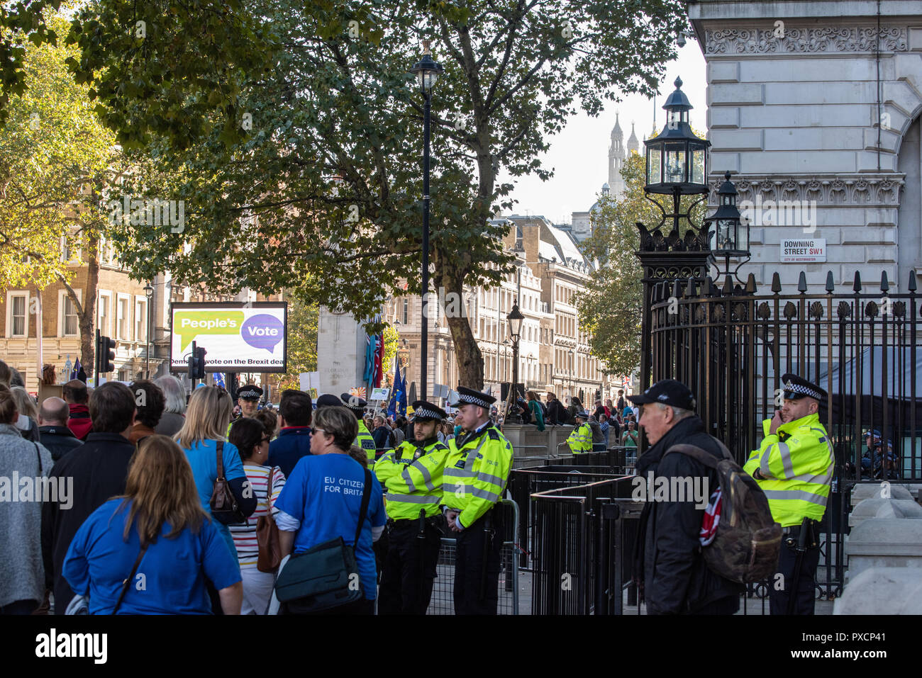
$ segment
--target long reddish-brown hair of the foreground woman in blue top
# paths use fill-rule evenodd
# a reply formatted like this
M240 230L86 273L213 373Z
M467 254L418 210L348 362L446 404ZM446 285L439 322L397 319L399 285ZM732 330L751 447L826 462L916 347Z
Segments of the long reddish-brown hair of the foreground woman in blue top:
M149 436L138 446L128 467L124 495L117 511L131 502L124 523L124 540L128 541L132 524L141 544L157 541L163 523L169 522L175 537L185 528L198 532L209 520L195 488L192 466L179 445L166 436Z

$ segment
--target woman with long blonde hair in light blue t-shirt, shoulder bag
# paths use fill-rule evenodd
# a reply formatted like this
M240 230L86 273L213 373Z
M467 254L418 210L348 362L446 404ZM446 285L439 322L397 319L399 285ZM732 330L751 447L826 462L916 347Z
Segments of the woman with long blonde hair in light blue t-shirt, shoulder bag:
M205 509L209 516L211 495L214 492L215 480L218 479L219 441L223 443L221 464L224 467L224 477L227 478L231 492L237 499L237 505L247 517L253 515L256 510L256 497L249 488L240 452L224 439L224 433L231 424L232 410L233 403L228 392L217 386L201 386L192 393L185 411L183 427L173 437L192 466L192 477L195 478L198 498L202 503L202 509ZM226 520L220 516L215 518L219 521ZM216 523L216 527L224 537L231 555L236 558L237 549L234 548L231 531L227 525L220 522Z

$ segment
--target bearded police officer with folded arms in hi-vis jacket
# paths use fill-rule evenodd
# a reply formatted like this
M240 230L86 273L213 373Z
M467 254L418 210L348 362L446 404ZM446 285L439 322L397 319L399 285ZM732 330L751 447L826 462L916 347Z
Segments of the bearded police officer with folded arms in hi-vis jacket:
M378 590L378 614L426 614L442 544L442 473L448 448L439 442L444 411L413 403L413 440L404 440L374 464L387 494L387 552Z

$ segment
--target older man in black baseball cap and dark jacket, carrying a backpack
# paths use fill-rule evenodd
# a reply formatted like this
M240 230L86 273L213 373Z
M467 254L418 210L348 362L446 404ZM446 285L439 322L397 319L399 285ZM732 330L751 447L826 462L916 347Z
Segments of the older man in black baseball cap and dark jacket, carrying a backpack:
M704 431L702 420L694 414L694 397L680 381L657 381L628 398L641 407L640 424L652 445L637 462L638 480L647 487L693 487L702 495L687 497L682 491L676 493L681 497L664 499L658 492L656 498L645 497L634 571L644 592L647 614L734 614L739 610L743 587L705 565L699 542L704 509L719 484L717 473L680 452L666 454L679 444L694 445L718 459L723 453L716 439ZM649 473L653 474L652 483L648 482Z

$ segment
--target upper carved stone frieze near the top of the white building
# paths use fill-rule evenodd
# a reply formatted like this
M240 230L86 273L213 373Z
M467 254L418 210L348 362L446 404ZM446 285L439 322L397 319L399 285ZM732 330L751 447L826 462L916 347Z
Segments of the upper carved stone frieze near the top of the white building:
M706 29L704 54L873 53L878 49L876 26L774 26L764 29ZM881 26L882 53L908 52L905 26Z

